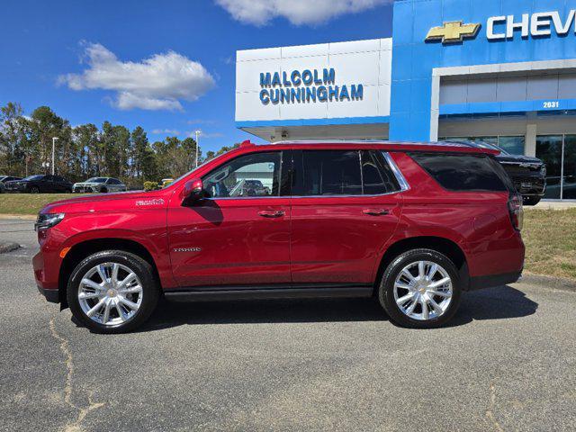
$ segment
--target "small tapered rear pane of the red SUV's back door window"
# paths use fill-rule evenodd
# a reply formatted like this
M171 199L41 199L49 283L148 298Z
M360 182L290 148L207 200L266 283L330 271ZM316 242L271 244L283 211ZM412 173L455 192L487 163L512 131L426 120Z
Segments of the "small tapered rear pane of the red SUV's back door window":
M400 184L381 151L363 150L362 181L365 195L381 195L400 191Z

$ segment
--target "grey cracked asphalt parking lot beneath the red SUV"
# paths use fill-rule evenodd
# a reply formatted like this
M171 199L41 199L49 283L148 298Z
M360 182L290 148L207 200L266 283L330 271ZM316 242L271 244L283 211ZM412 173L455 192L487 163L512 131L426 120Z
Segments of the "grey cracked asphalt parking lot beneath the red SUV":
M0 430L575 430L576 293L468 293L452 325L375 302L163 303L94 335L37 292L30 220L0 220Z

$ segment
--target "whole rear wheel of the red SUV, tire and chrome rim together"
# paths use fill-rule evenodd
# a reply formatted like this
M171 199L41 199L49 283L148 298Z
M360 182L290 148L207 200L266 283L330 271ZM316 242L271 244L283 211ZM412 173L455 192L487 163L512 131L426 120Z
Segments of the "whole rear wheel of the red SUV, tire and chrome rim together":
M433 329L450 320L460 304L460 278L454 263L432 249L412 249L386 268L378 297L392 322Z

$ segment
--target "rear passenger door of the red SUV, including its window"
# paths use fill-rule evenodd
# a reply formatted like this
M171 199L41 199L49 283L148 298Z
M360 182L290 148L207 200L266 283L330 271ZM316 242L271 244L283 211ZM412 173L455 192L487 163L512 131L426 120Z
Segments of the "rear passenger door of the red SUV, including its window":
M293 284L374 284L401 215L392 158L346 149L294 151L293 158Z

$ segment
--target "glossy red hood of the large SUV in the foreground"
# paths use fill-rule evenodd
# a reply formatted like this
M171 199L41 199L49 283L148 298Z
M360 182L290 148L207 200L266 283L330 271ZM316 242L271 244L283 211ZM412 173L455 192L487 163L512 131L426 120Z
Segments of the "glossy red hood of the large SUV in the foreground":
M50 202L40 213L134 211L166 207L171 191L102 193Z

